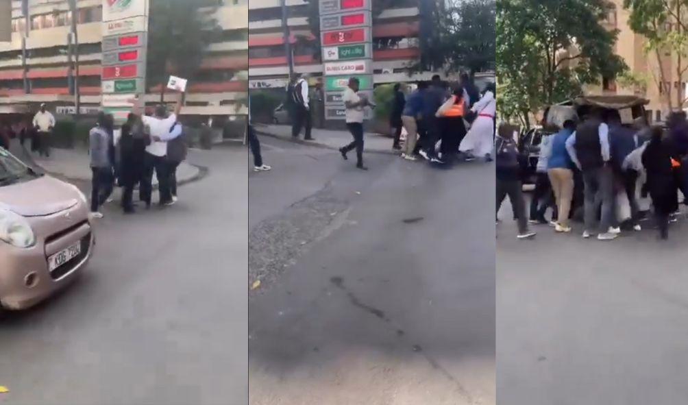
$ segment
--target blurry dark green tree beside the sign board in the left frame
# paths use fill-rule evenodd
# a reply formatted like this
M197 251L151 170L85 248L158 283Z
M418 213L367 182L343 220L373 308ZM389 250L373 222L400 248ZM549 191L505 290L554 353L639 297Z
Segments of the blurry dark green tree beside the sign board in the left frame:
M199 8L204 8L200 12ZM153 0L148 30L147 88L161 85L169 74L189 78L198 71L208 45L221 32L212 18L216 8L204 0Z

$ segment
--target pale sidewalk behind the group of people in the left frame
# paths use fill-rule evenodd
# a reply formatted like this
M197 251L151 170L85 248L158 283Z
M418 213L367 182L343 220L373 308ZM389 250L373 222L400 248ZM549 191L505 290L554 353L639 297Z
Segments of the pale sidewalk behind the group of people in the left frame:
M91 181L92 173L89 167L89 155L87 151L79 149L52 149L50 157L39 157L36 153L31 154L31 158L43 171L66 177L70 180ZM191 166L182 162L177 169L178 183L186 183L196 179L200 175L200 170L196 166ZM153 185L158 184L158 179L153 176Z

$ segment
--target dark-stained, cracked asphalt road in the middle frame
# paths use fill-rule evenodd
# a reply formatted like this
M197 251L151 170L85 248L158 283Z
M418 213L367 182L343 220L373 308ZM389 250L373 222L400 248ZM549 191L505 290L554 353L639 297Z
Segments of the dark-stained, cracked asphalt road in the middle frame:
M261 142L250 404L495 404L493 166Z

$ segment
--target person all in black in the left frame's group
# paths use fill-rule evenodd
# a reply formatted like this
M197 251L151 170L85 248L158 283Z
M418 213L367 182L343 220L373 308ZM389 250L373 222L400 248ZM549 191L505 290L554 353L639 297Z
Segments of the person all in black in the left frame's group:
M120 138L122 209L127 214L134 212L133 188L141 182L146 146L150 143L151 138L145 133L140 117L134 113L129 113L127 122L122 125Z

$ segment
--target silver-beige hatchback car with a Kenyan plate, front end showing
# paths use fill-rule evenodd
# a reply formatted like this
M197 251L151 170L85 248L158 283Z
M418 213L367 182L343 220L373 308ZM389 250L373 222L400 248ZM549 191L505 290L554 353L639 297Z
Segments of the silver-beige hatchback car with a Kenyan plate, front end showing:
M94 244L85 195L0 148L0 310L26 309L67 285Z

